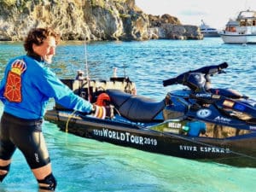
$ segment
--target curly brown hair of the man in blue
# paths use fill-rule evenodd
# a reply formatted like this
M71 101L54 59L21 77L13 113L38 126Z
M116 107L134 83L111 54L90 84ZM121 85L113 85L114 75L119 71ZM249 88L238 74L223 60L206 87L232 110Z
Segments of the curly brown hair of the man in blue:
M32 44L41 45L44 43L44 40L48 37L54 37L56 44L60 42L60 35L56 33L52 28L33 28L28 35L24 42L24 48L28 54L33 53Z

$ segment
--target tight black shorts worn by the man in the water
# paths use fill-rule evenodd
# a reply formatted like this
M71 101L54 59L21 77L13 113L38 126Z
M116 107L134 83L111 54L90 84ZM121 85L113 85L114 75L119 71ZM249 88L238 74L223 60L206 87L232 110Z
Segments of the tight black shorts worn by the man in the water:
M0 159L10 160L19 148L31 169L49 164L42 133L43 119L20 119L3 113L0 125Z

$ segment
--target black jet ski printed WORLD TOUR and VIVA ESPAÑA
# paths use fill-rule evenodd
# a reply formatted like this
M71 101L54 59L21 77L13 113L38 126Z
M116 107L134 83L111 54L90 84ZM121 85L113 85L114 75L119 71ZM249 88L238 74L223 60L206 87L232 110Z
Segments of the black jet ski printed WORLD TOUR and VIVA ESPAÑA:
M108 81L63 79L76 94L108 108L108 118L73 112L57 103L45 119L61 131L124 147L256 167L256 101L235 90L212 88L212 75L224 73L226 62L188 71L163 81L183 84L156 101L136 95L127 77Z

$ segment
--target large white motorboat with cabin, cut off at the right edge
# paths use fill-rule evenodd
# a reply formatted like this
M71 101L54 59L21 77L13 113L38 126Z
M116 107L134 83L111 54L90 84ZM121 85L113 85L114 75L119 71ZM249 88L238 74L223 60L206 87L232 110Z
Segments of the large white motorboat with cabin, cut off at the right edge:
M256 11L241 11L219 35L226 44L256 44Z

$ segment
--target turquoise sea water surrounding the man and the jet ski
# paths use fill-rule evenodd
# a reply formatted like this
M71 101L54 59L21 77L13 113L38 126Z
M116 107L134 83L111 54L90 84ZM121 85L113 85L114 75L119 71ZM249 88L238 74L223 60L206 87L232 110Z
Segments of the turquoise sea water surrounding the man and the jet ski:
M226 74L212 86L231 87L256 98L256 46L223 44L220 38L201 41L152 40L87 44L90 79L106 79L113 67L137 84L140 95L162 99L162 80L178 73L227 61ZM61 78L85 69L84 43L61 44L51 65ZM0 78L10 57L24 54L22 44L0 42ZM53 102L49 102L49 108ZM3 105L0 103L1 113ZM256 169L223 166L150 154L132 148L76 137L44 121L53 171L60 192L243 192L255 191ZM33 192L38 186L26 160L16 151L0 192Z

